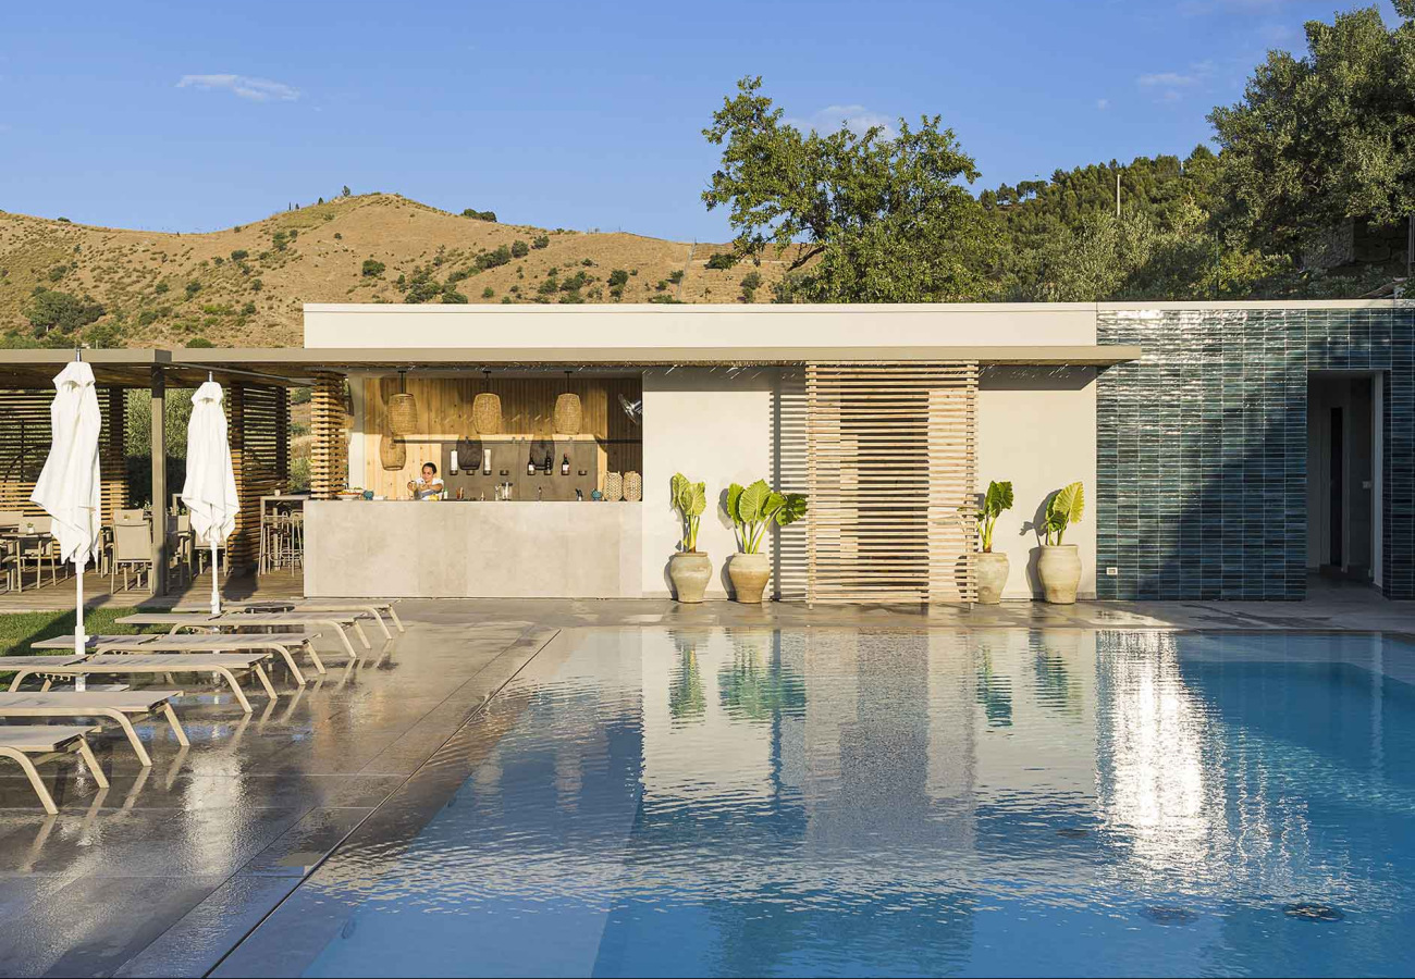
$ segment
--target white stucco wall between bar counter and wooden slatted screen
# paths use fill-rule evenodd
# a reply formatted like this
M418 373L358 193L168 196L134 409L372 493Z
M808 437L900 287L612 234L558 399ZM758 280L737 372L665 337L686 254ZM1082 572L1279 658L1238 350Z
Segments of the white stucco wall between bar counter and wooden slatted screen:
M644 372L644 594L669 594L668 557L679 542L668 481L682 473L708 484L698 549L713 562L708 597L724 598L727 557L737 549L719 497L730 482L771 475L774 369L675 368Z

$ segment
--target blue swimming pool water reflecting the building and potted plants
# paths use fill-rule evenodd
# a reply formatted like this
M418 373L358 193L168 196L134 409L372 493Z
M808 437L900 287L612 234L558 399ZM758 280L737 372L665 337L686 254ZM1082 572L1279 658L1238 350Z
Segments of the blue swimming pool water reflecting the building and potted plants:
M342 915L306 975L1415 971L1415 647L562 647L474 723L430 822L306 884Z

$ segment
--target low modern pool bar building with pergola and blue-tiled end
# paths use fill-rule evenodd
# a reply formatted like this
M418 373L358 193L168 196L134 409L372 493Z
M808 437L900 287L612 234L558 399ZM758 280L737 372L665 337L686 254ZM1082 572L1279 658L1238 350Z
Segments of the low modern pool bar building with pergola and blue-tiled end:
M311 597L666 597L675 473L708 485L708 597L729 596L736 550L717 504L757 478L809 497L770 542L780 598L972 600L969 508L990 480L1016 498L993 539L1012 566L1005 598L1040 594L1034 528L1077 481L1087 512L1067 543L1082 598L1296 600L1316 573L1415 597L1405 301L311 304L304 317L300 349L85 355L100 386L151 388L157 403L208 372L229 386L250 501L236 560L255 555L259 495L287 478L289 390L313 388ZM68 357L0 355L4 398L30 406L0 416L14 457L3 505L28 498L38 409ZM412 499L424 463L443 501ZM154 499L171 490L161 468ZM117 475L110 492L142 502L120 499Z

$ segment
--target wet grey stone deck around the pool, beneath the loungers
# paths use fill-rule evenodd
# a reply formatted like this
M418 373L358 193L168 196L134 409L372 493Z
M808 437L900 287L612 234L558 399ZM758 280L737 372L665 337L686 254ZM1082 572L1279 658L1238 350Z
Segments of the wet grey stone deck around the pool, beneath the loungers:
M775 603L405 601L408 632L280 697L192 685L178 703L190 748L139 727L95 737L112 787L75 764L41 768L45 816L0 764L0 975L205 975L354 829L403 788L538 651L566 628L1343 630L1415 634L1415 603L1323 587L1303 603L1006 603L866 608ZM424 802L429 802L424 799ZM441 801L432 801L440 805ZM398 819L383 806L381 821ZM412 813L403 813L412 818Z

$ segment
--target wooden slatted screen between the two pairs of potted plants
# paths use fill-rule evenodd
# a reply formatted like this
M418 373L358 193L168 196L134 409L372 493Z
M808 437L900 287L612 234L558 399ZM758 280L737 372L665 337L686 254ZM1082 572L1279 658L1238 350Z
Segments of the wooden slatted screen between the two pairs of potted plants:
M805 365L807 598L976 601L978 365Z

